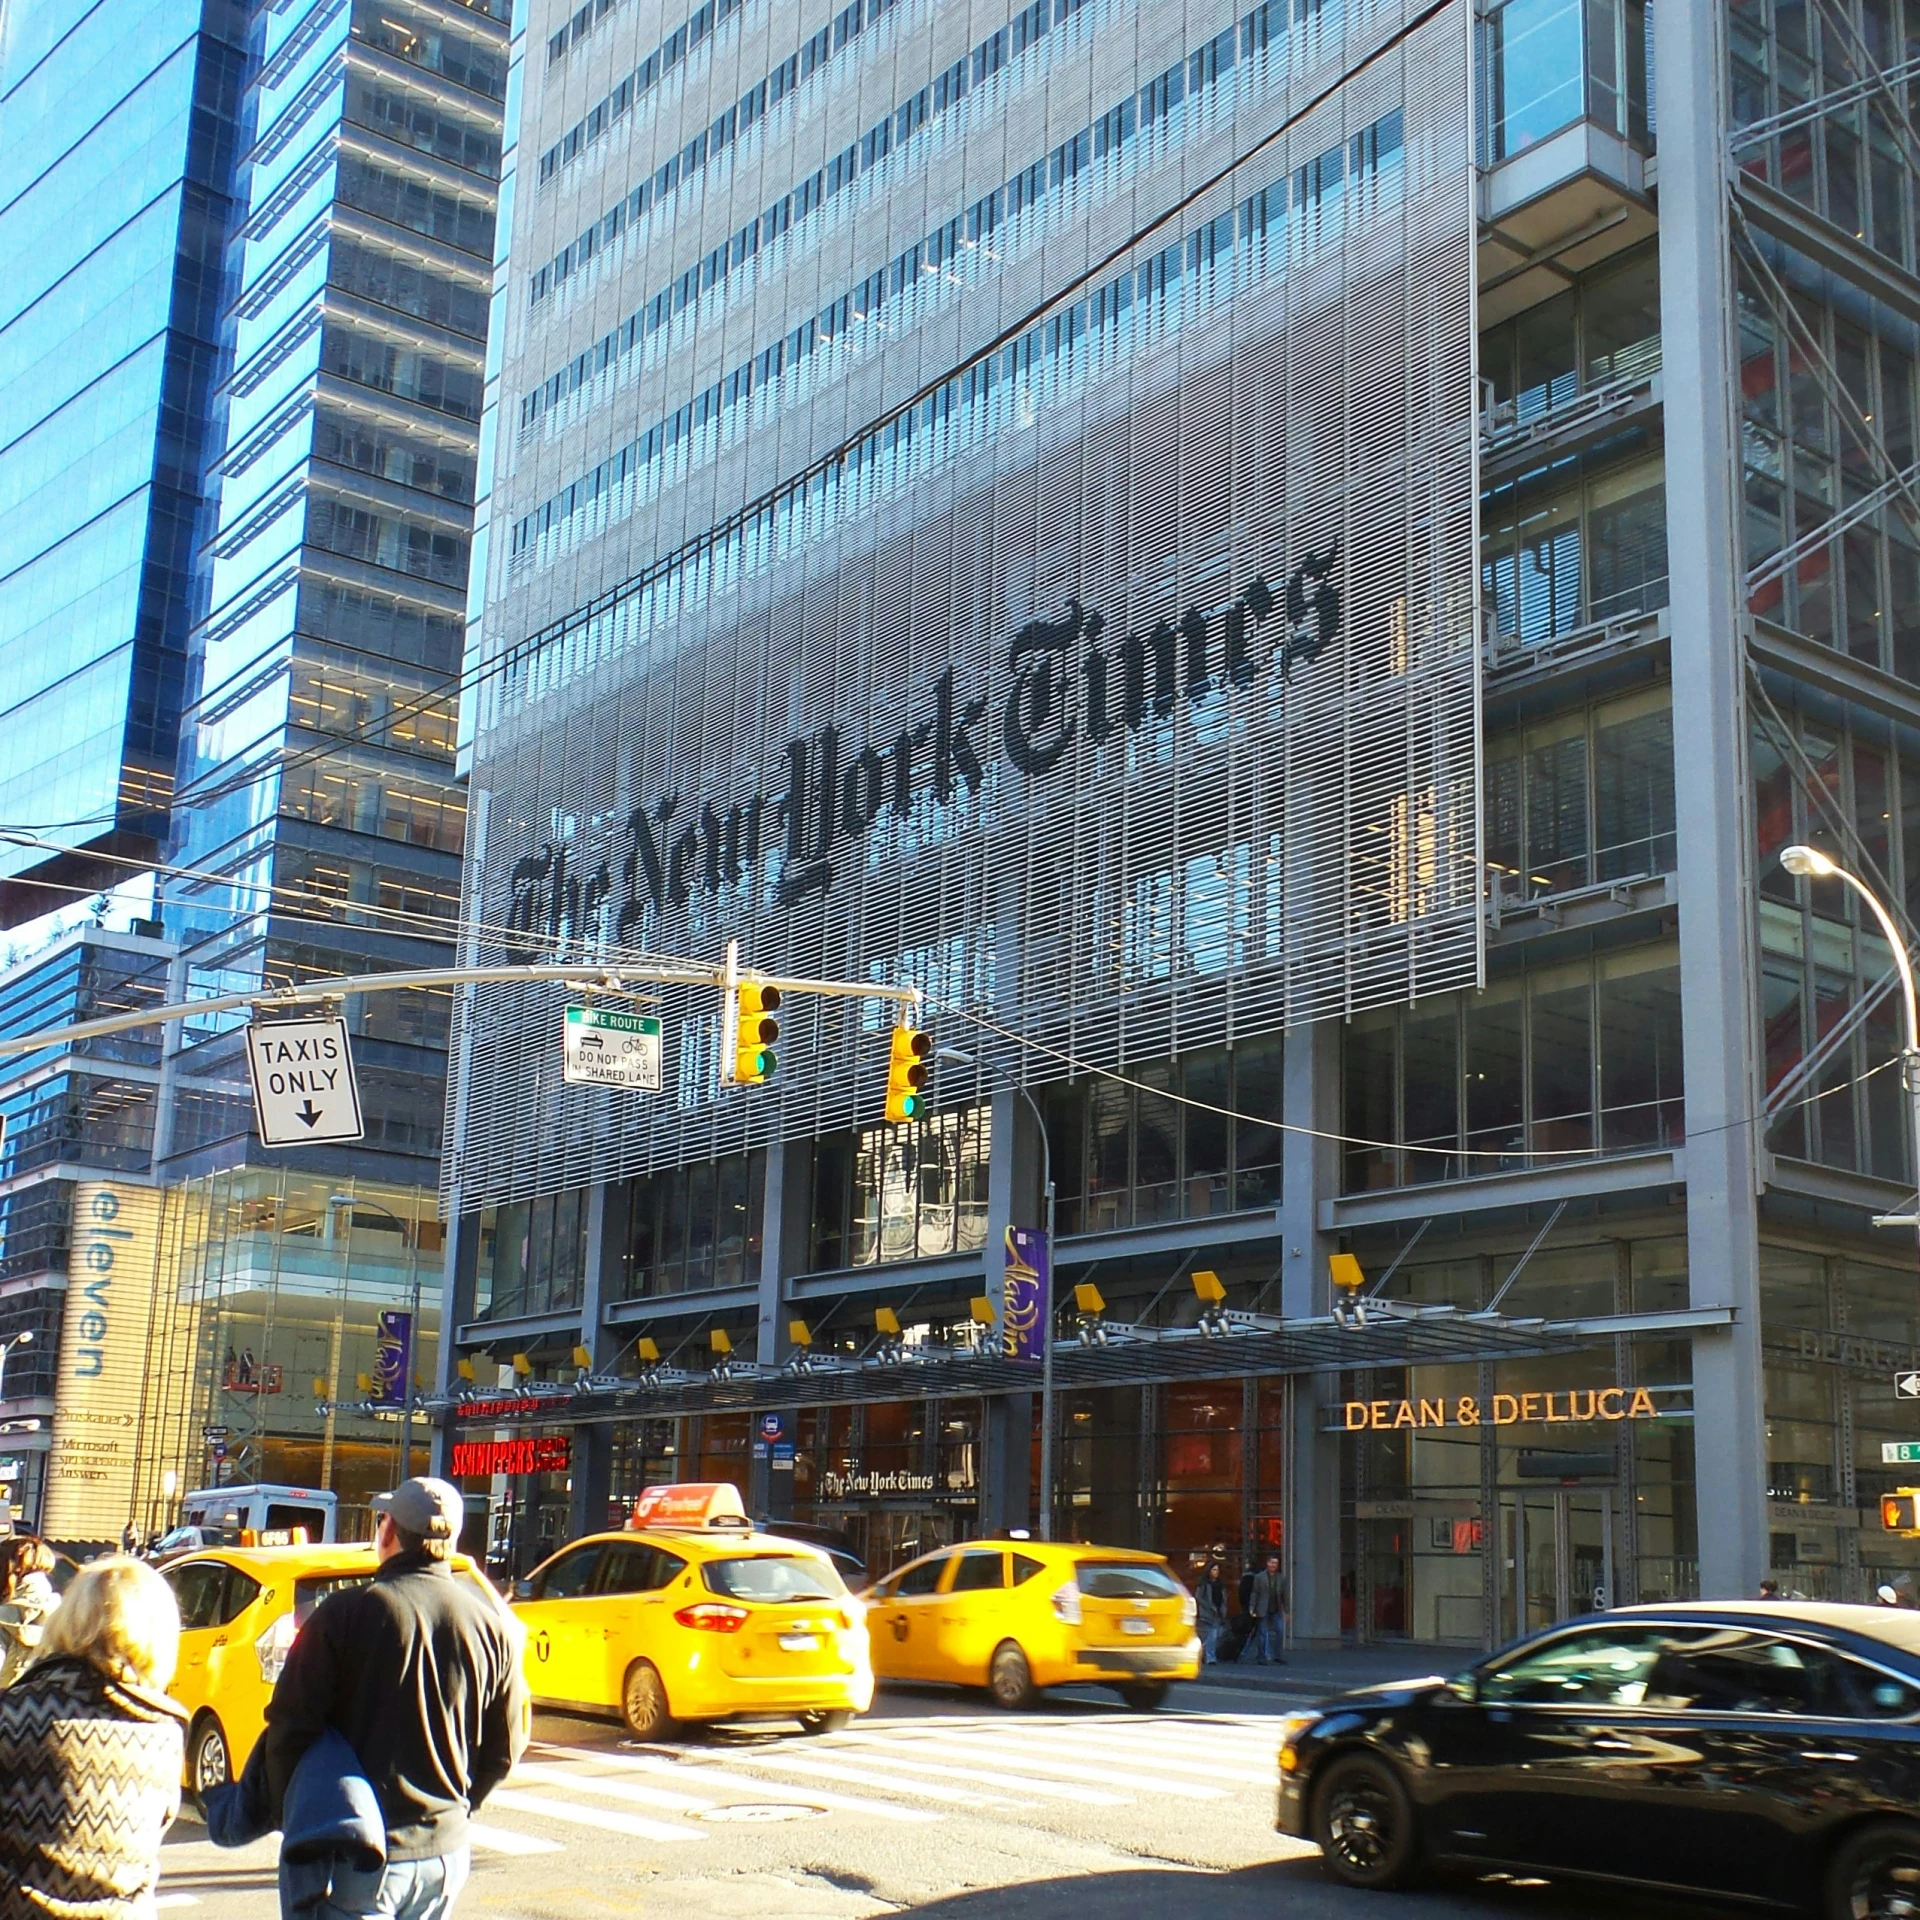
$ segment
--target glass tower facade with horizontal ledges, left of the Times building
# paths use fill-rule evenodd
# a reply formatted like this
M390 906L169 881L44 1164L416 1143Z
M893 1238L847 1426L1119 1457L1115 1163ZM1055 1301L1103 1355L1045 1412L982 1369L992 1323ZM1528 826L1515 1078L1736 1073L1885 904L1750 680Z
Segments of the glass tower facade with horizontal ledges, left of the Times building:
M175 860L196 877L167 895L207 993L449 956L507 83L507 0L257 4L250 31L180 745ZM346 1016L367 1112L351 1164L438 1177L447 1002L372 995ZM248 1152L252 1129L230 1025L180 1048L175 1175Z

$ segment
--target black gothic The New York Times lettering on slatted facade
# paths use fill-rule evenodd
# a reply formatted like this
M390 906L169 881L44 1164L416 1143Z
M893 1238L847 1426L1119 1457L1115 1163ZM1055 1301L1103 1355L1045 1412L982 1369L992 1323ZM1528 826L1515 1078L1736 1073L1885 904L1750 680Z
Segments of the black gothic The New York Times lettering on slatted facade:
M1027 622L1006 649L1000 753L1043 778L1079 739L1098 747L1137 733L1181 703L1250 687L1267 670L1290 682L1340 634L1336 563L1338 547L1309 553L1281 591L1256 578L1227 607L1188 607L1177 620L1117 639L1106 616L1079 601L1054 620ZM948 668L929 689L929 710L891 741L854 749L837 726L787 741L785 778L772 795L755 793L724 810L680 793L636 806L618 858L584 872L566 843L541 847L507 876L507 925L528 935L509 947L530 952L541 933L624 945L649 914L659 920L695 895L737 887L776 847L783 854L778 899L826 893L839 851L887 812L906 816L922 793L947 804L962 789L979 791L981 755L993 753L991 705L991 691L962 697Z

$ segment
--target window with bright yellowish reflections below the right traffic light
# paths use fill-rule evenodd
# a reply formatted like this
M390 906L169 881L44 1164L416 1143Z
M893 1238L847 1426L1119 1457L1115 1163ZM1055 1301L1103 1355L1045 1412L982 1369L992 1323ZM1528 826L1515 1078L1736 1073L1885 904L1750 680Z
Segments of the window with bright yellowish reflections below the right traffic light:
M816 1273L964 1254L987 1240L987 1108L870 1127L814 1148Z

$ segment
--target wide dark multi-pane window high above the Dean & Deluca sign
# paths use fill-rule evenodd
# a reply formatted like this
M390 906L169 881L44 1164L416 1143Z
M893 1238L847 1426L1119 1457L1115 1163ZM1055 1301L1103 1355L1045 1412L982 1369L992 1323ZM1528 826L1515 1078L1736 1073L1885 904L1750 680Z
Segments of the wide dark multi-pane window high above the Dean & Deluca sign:
M1342 1131L1384 1142L1346 1148L1348 1192L1672 1146L1686 1137L1678 948L1634 947L1357 1014L1342 1087Z

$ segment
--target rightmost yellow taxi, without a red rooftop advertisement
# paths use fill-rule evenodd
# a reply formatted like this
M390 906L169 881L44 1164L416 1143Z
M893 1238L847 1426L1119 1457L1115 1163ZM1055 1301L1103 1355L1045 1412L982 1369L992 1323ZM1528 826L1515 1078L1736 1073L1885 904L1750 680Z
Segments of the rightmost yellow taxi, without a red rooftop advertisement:
M1000 1707L1094 1682L1150 1711L1200 1676L1192 1596L1158 1553L968 1540L887 1574L866 1607L877 1678L985 1686Z

